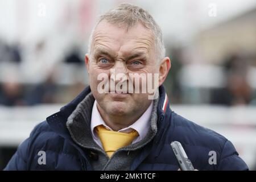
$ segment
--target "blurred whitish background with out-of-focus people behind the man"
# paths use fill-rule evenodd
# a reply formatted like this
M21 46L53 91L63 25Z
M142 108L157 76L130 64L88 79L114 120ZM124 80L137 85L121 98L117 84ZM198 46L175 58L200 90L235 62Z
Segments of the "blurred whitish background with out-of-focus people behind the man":
M171 109L231 140L255 170L255 0L0 0L0 169L36 124L88 86L90 31L122 2L162 27Z

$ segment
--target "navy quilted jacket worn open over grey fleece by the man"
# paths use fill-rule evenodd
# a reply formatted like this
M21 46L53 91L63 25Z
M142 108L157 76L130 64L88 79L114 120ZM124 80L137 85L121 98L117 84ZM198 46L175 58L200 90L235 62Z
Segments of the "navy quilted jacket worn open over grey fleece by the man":
M20 144L5 170L92 170L89 161L95 154L73 142L65 125L69 115L88 93L89 87L37 125L30 137ZM159 88L159 95L158 133L134 159L131 170L177 170L179 167L170 147L174 140L182 144L196 169L248 169L228 139L174 113L163 86ZM38 163L39 151L46 152L45 165ZM216 152L216 164L209 163L210 151Z

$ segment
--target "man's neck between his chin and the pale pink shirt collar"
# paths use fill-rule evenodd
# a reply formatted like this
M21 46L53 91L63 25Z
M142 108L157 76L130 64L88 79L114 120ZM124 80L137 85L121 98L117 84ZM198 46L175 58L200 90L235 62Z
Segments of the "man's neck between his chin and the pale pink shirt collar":
M97 109L102 119L104 120L106 125L108 125L114 131L118 131L126 127L129 127L130 125L133 125L133 123L135 123L142 116L142 114L147 110L147 108L140 110L139 112L137 112L137 114L131 113L131 114L113 115L113 114L107 114L97 104Z

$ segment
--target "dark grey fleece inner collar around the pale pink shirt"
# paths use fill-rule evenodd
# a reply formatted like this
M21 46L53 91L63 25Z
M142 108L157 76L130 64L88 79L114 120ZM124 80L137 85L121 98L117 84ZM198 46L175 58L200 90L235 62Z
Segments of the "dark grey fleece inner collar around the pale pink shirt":
M90 148L96 151L101 151L102 148L98 146L96 142L94 142L92 138L92 132L90 131L90 119L92 115L92 107L94 103L94 97L92 92L90 92L84 100L82 100L79 105L77 105L76 109L73 111L71 115L69 115L66 126L71 134L72 139L79 144L79 146L84 148ZM151 140L155 137L157 133L157 106L158 106L159 98L154 100L153 109L150 118L150 130L146 137L144 137L141 141L137 143L130 144L129 146L119 148L118 151L134 151L146 146ZM104 152L105 153L105 152Z

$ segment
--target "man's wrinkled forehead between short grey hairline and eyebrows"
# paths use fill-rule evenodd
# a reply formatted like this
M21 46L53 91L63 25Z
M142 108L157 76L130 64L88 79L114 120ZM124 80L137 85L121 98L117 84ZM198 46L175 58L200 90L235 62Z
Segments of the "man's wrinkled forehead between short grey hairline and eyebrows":
M125 25L103 20L92 36L92 53L98 49L111 50L115 54L138 50L149 55L154 50L154 45L152 31L141 23L127 29Z

